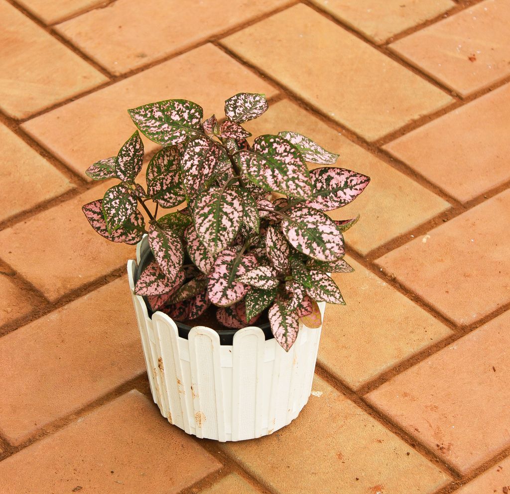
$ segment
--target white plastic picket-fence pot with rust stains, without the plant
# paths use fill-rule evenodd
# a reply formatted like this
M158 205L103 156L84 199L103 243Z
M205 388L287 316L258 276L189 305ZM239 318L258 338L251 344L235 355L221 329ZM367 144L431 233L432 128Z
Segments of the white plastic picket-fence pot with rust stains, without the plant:
M138 244L138 263L147 247ZM219 441L261 437L290 424L310 397L322 328L300 323L289 352L258 327L237 331L233 345L220 345L218 333L205 326L193 327L186 340L166 314L150 318L134 294L137 262L127 263L127 274L152 398L163 417ZM324 315L325 303L319 307Z

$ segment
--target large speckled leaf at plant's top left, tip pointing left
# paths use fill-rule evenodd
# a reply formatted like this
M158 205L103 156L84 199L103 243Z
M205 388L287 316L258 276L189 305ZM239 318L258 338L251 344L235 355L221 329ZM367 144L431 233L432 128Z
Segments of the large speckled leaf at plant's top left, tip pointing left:
M173 146L202 133L203 110L186 99L149 103L128 112L140 132L161 146Z

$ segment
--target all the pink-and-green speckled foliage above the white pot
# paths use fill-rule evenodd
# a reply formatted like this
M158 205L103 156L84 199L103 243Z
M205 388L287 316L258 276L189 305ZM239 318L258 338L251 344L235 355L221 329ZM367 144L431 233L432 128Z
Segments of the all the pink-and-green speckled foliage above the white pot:
M234 328L267 311L288 351L300 321L321 325L317 302L345 304L328 273L352 271L343 232L358 218L334 221L327 212L353 201L370 178L331 166L338 155L297 132L250 145L242 124L267 108L263 94L239 93L225 101L223 121L204 120L184 99L129 110L138 131L162 146L147 166L147 191L136 181L144 155L136 131L116 157L88 168L94 180L120 181L83 212L112 242L136 244L148 234L154 261L135 293L153 310L187 321L214 305L218 321ZM306 162L328 166L309 171ZM159 207L178 210L158 215Z

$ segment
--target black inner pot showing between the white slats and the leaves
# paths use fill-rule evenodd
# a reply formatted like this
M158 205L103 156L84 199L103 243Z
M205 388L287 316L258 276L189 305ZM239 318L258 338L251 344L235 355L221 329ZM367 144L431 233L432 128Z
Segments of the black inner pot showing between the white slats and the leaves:
M135 274L135 283L140 279L140 276L142 275L145 268L154 261L154 254L152 254L152 251L150 250L150 247L148 245L148 242L146 242L146 238L144 241L142 241L141 251L140 251L140 263L138 264L136 274ZM151 318L152 314L154 314L154 311L150 308L150 304L148 302L148 299L146 296L143 297L143 300L145 302L145 305L147 307L147 314ZM261 319L266 318L267 319L267 311L263 313L261 316ZM234 342L234 334L239 331L239 329L234 328L227 328L225 326L220 325L220 323L216 320L216 307L214 305L211 305L207 310L206 313L202 316L200 316L197 319L189 320L190 324L186 324L184 322L174 321L177 330L179 331L179 336L181 338L184 338L185 340L188 339L188 334L191 330L191 328L195 326L207 326L212 329L214 329L220 337L220 345L233 345ZM273 334L271 332L271 326L269 322L264 322L262 324L256 324L255 327L259 327L264 332L264 336L266 340L270 340L273 338Z

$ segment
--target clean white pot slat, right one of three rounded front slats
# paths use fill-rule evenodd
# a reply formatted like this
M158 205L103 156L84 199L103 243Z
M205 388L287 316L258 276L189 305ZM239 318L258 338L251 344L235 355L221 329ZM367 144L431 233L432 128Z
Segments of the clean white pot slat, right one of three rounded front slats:
M262 434L264 332L248 327L234 335L232 368L232 440Z

